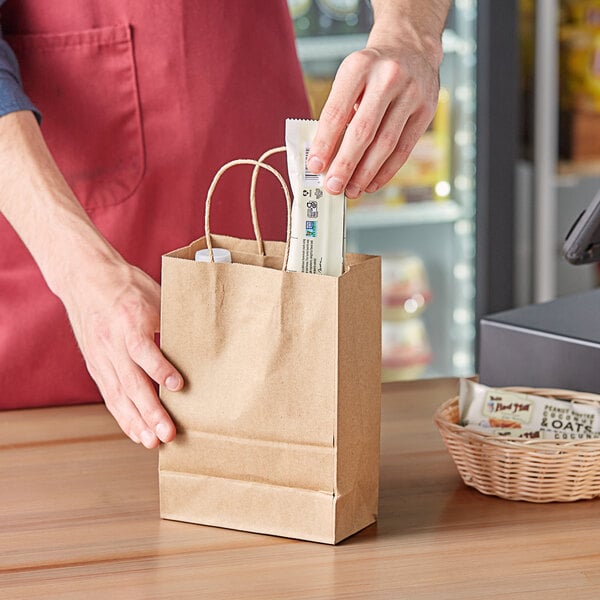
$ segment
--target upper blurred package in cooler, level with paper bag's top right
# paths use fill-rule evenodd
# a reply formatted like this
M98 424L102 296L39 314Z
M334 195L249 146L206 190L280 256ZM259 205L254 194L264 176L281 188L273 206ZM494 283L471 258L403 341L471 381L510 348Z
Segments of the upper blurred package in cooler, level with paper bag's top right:
M425 265L414 254L383 256L381 285L382 317L386 320L417 316L431 300Z

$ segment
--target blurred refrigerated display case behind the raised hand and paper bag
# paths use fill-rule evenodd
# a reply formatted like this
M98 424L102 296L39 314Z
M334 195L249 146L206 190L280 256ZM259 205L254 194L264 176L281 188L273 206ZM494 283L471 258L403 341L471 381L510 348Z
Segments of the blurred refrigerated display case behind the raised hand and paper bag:
M366 44L370 5L365 0L289 0L289 6L313 116L318 118L340 62ZM453 3L443 34L440 101L431 126L384 189L348 201L347 250L382 256L384 379L474 373L478 318L490 307L510 307L501 298L511 288L504 279L507 273L512 277L512 264L507 269L496 263L510 259L512 198L504 199L499 231L489 223L497 207L487 188L498 175L504 184L512 180L508 169L502 174L493 168L490 149L496 139L490 136L498 124L485 124L485 156L478 153L479 121L502 101L488 85L482 95L486 104L480 105L478 90L478 35L490 34L483 48L489 67L490 44L498 38L491 23L497 10L491 0ZM509 16L503 13L503 19ZM497 55L497 46L494 61L502 62L505 57ZM499 133L510 136L510 123L507 132ZM484 196L481 202L478 196ZM496 239L498 234L502 239ZM492 240L497 242L494 248ZM494 303L490 290L496 291L497 281L503 290L497 290L494 297L500 300Z

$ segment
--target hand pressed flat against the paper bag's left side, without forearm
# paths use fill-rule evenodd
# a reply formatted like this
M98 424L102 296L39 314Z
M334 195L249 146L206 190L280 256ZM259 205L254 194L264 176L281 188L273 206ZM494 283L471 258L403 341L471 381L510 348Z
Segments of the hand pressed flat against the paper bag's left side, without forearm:
M154 342L160 286L124 261L95 265L73 285L62 300L106 407L134 442L171 441L175 426L152 380L177 391L183 378Z

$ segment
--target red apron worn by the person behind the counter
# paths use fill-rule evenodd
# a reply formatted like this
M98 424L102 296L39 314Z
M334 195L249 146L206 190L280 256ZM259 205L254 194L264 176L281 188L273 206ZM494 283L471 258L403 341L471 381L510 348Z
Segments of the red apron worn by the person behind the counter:
M67 181L157 280L161 254L202 235L215 171L281 145L285 118L309 114L285 0L8 0L1 15ZM223 178L215 233L252 236L249 177ZM261 229L282 239L270 179ZM62 304L0 215L0 408L99 400Z

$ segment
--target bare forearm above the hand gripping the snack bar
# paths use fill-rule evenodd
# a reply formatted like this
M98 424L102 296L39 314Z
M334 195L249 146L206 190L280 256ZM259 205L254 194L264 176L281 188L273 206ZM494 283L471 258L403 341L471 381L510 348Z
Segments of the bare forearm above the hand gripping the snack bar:
M372 0L374 24L369 46L410 43L431 60L442 62L442 32L451 0Z

